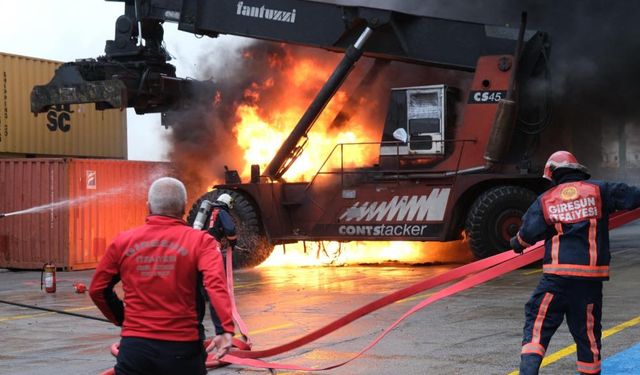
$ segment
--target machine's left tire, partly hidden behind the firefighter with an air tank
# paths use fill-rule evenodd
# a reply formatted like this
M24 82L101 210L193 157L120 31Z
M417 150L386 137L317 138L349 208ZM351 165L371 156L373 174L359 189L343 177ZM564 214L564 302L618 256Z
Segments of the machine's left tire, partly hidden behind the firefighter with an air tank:
M210 202L215 202L224 193L231 195L234 200L230 213L236 224L238 243L233 252L233 268L255 267L271 255L273 245L269 244L265 235L257 207L242 193L228 189L217 189L206 193L189 210L187 222L189 225L193 225L202 200L207 199Z

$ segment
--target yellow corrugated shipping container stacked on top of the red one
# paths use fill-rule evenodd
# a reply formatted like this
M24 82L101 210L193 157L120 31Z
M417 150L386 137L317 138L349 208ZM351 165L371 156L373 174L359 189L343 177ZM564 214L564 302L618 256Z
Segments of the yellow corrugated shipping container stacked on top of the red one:
M31 89L60 64L0 53L0 153L126 159L126 111L80 104L30 112Z

